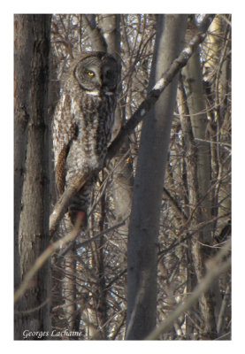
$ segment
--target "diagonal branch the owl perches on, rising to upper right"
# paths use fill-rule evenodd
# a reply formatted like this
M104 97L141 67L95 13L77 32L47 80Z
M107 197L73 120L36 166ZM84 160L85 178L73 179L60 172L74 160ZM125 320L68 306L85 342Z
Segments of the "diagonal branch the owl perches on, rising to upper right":
M119 135L111 143L108 149L104 165L106 161L109 161L111 160L111 158L114 158L114 156L122 146L126 136L134 130L134 128L142 121L142 119L144 119L149 110L154 106L154 104L156 104L159 96L171 83L175 75L180 72L180 69L183 66L187 65L188 59L194 53L195 48L203 42L206 32L210 27L211 21L214 17L215 15L205 15L203 17L203 21L197 27L195 35L190 40L188 45L184 48L184 50L180 52L180 56L172 62L172 65L170 65L169 69L163 74L161 79L157 81L153 89L149 91L148 96L145 98L139 108L134 112L131 119L129 119L126 122L126 125L121 128ZM67 211L67 207L72 197L91 177L92 175L89 173L84 174L83 176L76 176L73 180L73 183L65 189L64 194L59 198L57 204L54 207L54 211L50 215L50 235L55 232L58 222L65 215L65 212Z

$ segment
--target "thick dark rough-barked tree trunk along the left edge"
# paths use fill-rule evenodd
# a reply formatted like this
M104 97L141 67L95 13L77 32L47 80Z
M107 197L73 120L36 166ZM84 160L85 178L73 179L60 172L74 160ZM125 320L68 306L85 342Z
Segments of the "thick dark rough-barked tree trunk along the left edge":
M50 15L15 15L14 25L14 237L15 287L18 288L49 242L50 122L47 96ZM15 339L23 339L24 330L50 331L49 296L50 268L46 264L16 304Z

